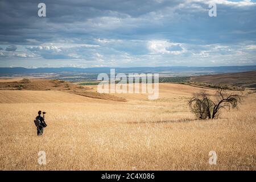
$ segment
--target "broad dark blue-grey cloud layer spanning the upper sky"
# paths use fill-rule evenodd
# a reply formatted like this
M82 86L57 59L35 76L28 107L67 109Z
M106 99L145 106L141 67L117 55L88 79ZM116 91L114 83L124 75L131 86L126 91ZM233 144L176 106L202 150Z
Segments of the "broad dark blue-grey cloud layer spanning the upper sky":
M37 16L37 1L0 2L2 43L32 44L65 38L170 39L200 43L256 40L256 6L217 5L197 1L44 1L46 18ZM250 17L250 18L247 18ZM239 34L239 36L237 36Z

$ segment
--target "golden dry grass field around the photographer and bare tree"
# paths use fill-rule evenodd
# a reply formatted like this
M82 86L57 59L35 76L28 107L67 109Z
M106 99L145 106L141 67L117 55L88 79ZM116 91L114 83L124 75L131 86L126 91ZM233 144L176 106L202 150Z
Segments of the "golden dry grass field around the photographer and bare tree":
M127 102L60 90L1 90L0 169L255 170L256 94L239 110L201 121L188 107L199 90L160 84L158 100L115 94ZM36 136L38 110L47 111L43 137ZM38 164L39 151L46 152L46 165ZM209 164L209 151L216 151L216 165Z

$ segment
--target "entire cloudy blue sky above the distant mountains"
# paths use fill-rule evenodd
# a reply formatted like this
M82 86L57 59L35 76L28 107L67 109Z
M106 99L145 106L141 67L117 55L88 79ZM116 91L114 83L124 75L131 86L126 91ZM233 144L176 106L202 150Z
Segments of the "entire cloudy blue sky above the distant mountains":
M0 17L0 67L256 65L250 0L1 0Z

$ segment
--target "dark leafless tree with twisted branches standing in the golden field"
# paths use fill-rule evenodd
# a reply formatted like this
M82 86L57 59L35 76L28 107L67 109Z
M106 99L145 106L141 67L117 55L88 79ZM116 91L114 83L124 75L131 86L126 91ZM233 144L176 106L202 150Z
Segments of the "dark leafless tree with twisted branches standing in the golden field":
M217 118L220 109L236 108L242 97L241 94L224 94L222 88L217 90L216 96L217 100L214 102L205 92L195 94L188 102L191 111L200 119Z

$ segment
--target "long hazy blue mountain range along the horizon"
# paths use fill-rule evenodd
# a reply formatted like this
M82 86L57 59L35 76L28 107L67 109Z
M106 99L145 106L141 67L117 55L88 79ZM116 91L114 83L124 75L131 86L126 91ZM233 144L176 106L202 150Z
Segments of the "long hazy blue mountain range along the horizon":
M209 75L220 73L236 73L256 71L256 65L227 66L227 67L132 67L115 68L115 73L196 73L196 75ZM27 75L32 73L109 73L110 67L100 68L0 68L0 76Z

